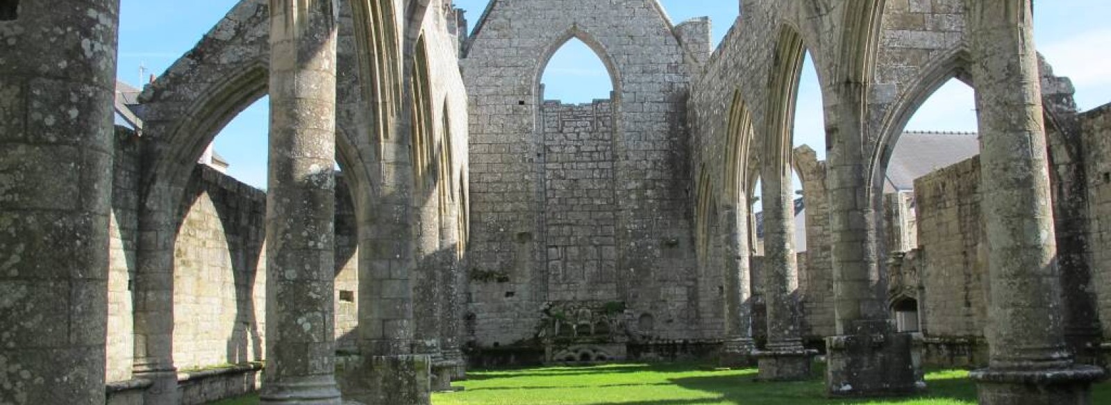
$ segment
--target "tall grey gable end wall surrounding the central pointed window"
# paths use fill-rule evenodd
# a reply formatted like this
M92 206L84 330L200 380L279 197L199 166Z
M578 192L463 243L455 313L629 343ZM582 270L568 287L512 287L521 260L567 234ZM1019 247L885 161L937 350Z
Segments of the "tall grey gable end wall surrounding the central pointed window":
M699 31L697 24L683 30L691 46L699 47ZM544 162L552 160L539 121L539 80L570 38L591 47L613 79L607 176L615 185L612 244L619 248L615 278L604 288L628 304L633 318L653 318L653 336L698 336L685 129L695 58L655 1L523 0L493 1L461 60L471 112L471 338L484 347L527 342L536 336L540 308L556 298L548 292L554 258L544 245L542 209ZM608 261L607 250L591 249L599 265Z

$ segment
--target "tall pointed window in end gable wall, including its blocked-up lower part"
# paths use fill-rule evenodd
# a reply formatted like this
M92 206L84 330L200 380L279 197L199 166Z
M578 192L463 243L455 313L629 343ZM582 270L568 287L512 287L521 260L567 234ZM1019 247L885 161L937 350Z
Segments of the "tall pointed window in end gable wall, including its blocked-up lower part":
M548 298L556 302L622 299L614 85L604 56L595 49L579 38L569 39L544 66L540 78L547 86L537 85L540 97L561 99L538 106L539 150L536 160L529 157L543 172L543 234L568 236L543 239L549 271L567 286L549 290ZM667 254L674 250L667 249Z

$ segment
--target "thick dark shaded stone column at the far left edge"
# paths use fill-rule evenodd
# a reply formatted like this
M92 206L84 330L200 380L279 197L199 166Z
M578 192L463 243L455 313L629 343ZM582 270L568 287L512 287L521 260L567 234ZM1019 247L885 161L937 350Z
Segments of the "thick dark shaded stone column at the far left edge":
M118 23L0 4L0 403L104 403Z

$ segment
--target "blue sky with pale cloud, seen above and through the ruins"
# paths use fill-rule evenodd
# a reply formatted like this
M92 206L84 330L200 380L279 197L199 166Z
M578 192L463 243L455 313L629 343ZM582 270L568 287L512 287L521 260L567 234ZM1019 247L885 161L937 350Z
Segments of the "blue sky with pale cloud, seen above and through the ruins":
M238 0L122 0L120 14L120 59L118 77L132 85L149 75L161 75L191 49ZM468 10L471 26L488 0L457 0ZM737 0L660 0L679 23L709 16L713 21L714 45L737 18ZM1082 110L1111 101L1111 1L1039 1L1034 24L1039 50L1054 66L1055 73L1072 78L1077 102ZM143 67L144 69L141 69ZM581 42L560 49L544 78L547 98L583 102L608 97L611 83L597 56ZM942 87L914 116L908 129L975 130L972 90L960 82ZM267 178L267 99L248 108L217 137L216 149L231 162L229 174L264 188ZM803 68L795 115L795 144L807 144L824 154L821 100L813 68ZM821 158L821 156L820 156Z

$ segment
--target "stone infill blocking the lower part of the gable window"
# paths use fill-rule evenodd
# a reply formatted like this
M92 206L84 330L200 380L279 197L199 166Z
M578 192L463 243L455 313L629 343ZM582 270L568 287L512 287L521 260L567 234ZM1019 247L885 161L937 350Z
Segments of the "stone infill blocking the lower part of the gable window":
M618 300L612 102L541 108L548 299Z

